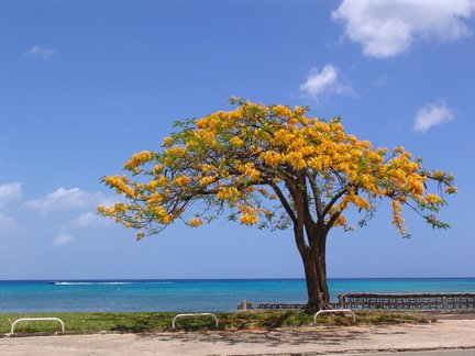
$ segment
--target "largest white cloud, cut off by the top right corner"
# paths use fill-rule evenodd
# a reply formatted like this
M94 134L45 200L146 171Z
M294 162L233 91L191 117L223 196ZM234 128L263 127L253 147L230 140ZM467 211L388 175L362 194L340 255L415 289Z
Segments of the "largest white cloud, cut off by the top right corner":
M345 23L345 35L373 57L407 52L420 40L455 41L471 35L466 20L475 0L344 0L332 18Z

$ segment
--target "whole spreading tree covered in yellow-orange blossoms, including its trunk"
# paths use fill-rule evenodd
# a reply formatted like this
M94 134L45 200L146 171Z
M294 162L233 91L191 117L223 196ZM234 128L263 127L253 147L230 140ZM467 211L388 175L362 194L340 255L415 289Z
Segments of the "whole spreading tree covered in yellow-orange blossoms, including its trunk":
M308 307L329 308L325 248L332 227L352 230L343 214L355 207L366 224L388 200L393 224L408 236L401 216L409 207L433 227L434 215L455 193L453 176L426 170L402 147L374 148L344 132L340 119L309 119L308 108L264 105L240 98L236 108L176 122L161 152L135 154L128 175L102 181L128 203L98 207L101 215L139 230L137 240L181 220L196 227L221 214L261 229L294 231L303 262ZM134 178L136 177L136 178ZM427 193L434 181L438 193Z

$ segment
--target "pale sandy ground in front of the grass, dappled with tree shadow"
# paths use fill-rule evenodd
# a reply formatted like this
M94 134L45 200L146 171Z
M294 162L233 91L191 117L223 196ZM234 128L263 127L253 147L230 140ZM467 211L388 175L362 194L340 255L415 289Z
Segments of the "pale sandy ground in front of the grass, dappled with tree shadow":
M475 320L428 324L0 338L0 355L328 355L473 348Z

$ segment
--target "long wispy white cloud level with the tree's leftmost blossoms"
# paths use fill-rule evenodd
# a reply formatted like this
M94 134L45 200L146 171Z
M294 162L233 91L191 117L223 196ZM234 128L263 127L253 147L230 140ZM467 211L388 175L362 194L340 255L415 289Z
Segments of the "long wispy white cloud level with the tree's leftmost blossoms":
M106 204L108 199L100 192L89 193L79 188L64 189L46 194L41 199L33 199L23 204L23 208L36 209L46 214L55 210L87 208Z

